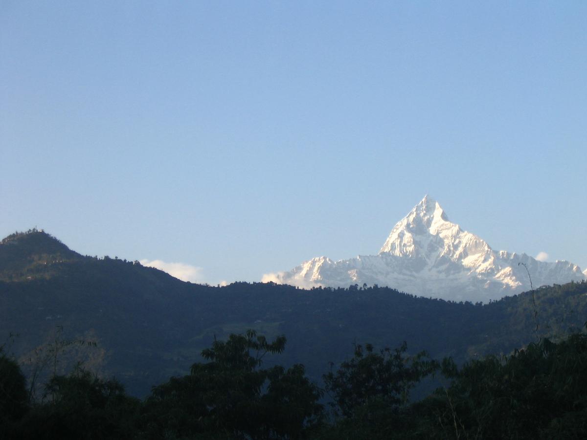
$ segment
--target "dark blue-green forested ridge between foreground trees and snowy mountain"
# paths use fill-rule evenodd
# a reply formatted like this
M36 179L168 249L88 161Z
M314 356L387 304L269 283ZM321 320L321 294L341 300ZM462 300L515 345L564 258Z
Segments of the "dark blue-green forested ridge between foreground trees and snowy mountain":
M541 287L532 297L526 292L482 305L387 287L213 287L138 262L80 256L44 232L15 234L0 244L0 336L18 333L15 354L33 368L42 357L39 347L55 346L56 331L63 341L96 341L75 356L86 356L92 368L115 375L139 396L185 374L214 337L246 329L285 334L279 363L302 363L315 380L330 361L352 356L353 343L397 347L407 341L411 353L464 361L581 331L587 283ZM64 348L60 368L68 368L68 360Z

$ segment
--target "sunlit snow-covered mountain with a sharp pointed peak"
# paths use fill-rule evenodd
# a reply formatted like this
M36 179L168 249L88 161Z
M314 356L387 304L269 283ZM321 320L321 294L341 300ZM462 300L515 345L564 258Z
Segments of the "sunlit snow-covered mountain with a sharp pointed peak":
M424 197L397 222L378 255L333 261L313 258L263 281L299 287L389 286L413 295L487 302L534 287L587 277L566 261L542 262L525 253L495 252L480 237L448 220L440 204Z

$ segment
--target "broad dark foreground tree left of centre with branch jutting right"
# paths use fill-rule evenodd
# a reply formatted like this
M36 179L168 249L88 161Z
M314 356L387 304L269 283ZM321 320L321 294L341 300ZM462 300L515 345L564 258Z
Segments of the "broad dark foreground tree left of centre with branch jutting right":
M208 435L216 438L303 438L321 418L321 393L302 365L260 368L267 353L281 353L285 337L268 343L249 330L214 341L207 363L153 388L144 420L151 438Z

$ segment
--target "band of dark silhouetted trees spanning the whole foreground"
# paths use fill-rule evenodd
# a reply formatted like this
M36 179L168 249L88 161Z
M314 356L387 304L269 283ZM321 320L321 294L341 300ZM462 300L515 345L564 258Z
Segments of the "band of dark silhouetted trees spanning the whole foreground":
M33 439L551 439L587 435L587 335L541 339L510 356L487 356L459 368L406 344L354 356L324 375L321 388L301 364L264 367L268 341L249 330L215 340L186 375L129 397L119 381L77 365L53 374L37 400L0 349L0 430ZM429 375L445 385L420 401L409 390ZM321 402L326 394L328 405Z

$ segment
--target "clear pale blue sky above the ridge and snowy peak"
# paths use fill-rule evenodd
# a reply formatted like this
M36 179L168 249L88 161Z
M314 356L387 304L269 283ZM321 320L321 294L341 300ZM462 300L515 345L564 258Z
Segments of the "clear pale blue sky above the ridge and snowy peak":
M587 268L587 2L0 1L0 235L260 280L425 194Z

